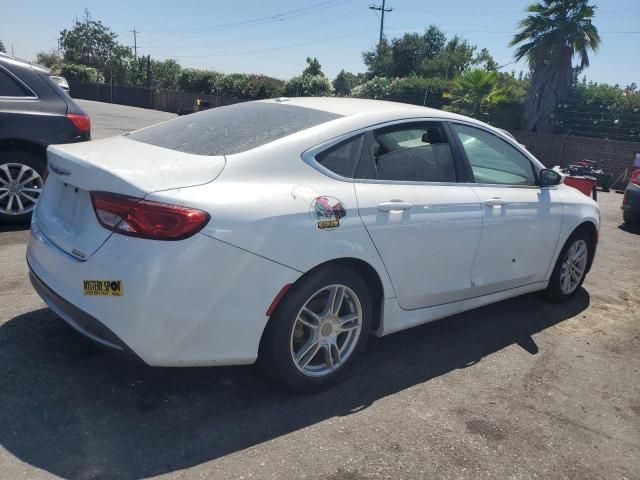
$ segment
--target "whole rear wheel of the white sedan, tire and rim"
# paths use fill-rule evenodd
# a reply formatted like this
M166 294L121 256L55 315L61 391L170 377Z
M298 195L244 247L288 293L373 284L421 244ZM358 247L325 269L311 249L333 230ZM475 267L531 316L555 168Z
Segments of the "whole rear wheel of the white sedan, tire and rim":
M337 383L364 350L372 305L356 272L334 266L311 273L291 288L271 317L261 366L298 391Z

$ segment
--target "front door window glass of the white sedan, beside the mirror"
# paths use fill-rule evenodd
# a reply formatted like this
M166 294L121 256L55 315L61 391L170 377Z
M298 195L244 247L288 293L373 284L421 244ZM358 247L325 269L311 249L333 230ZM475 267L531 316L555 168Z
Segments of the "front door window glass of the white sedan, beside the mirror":
M477 183L536 185L531 161L515 147L486 130L455 123L452 127Z

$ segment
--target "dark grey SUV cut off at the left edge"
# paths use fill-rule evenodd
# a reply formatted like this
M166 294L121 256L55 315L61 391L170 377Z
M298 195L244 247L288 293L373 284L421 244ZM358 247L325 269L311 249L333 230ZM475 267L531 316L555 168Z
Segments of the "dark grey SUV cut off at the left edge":
M0 223L29 221L47 146L91 138L89 116L45 68L0 54Z

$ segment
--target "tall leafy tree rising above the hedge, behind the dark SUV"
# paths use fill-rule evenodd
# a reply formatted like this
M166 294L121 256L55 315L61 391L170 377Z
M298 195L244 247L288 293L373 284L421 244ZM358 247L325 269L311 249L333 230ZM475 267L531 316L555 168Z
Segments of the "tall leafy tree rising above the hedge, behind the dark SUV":
M67 63L93 67L114 82L126 80L133 54L129 47L117 41L118 36L99 20L93 20L85 10L82 21L60 32L60 47Z

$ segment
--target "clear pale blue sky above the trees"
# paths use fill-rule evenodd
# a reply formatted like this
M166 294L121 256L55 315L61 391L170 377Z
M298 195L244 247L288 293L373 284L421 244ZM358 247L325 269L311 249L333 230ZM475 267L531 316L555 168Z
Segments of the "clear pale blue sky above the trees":
M290 78L316 56L333 78L344 68L362 72L362 51L378 39L382 0L0 0L0 39L8 51L33 59L56 46L58 33L72 26L84 8L138 53L175 58L183 66L222 72L265 73ZM513 60L509 39L531 0L387 0L385 35L422 31L433 23L486 47L498 64ZM640 85L640 0L594 0L602 47L591 56L587 78ZM505 71L520 70L511 64Z

